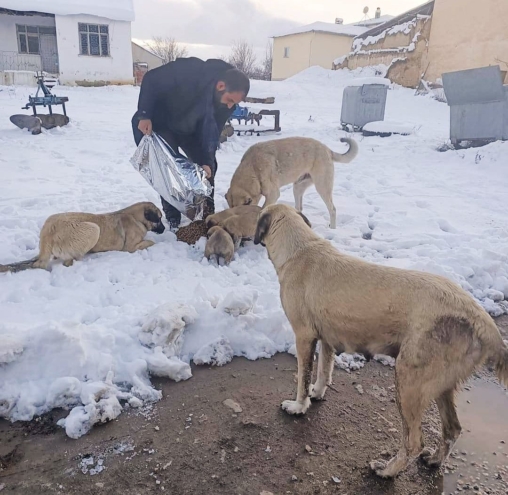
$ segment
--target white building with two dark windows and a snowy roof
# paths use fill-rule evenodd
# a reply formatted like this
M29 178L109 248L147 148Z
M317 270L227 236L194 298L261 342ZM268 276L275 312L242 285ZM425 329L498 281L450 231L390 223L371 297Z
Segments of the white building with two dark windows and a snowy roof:
M0 0L0 84L132 84L133 20L132 0Z

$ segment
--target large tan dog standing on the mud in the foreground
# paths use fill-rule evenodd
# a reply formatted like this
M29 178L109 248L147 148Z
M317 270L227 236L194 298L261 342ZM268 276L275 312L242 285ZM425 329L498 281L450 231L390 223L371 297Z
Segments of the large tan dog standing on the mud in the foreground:
M402 446L388 463L371 463L379 476L396 476L419 454L430 466L446 460L461 431L454 393L487 360L508 385L508 348L494 321L451 281L341 254L285 205L263 210L254 242L268 249L296 336L298 392L296 400L282 403L285 411L304 414L311 398L323 398L336 350L396 357ZM317 380L311 388L318 340ZM442 440L430 452L423 450L421 420L433 400Z

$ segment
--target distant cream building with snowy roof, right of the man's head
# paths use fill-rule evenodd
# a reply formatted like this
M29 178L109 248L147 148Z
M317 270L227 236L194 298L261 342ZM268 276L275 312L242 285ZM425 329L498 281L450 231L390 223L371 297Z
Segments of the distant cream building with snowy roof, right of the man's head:
M384 15L355 24L315 22L274 36L272 80L282 80L318 65L331 69L337 57L351 51L351 42L373 26L392 19Z

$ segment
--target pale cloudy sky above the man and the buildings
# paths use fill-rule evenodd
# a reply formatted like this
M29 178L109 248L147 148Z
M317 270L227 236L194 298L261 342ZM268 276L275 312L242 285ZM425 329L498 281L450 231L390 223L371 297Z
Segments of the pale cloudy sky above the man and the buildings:
M209 58L227 55L235 41L252 44L264 53L271 36L316 21L344 23L360 21L364 7L373 17L398 15L425 0L134 0L136 20L132 37L175 38L189 54Z

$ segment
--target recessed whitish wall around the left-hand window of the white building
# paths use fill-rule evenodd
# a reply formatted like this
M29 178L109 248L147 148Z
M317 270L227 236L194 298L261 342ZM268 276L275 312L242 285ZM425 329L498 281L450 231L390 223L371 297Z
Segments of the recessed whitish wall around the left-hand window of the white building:
M19 53L16 24L52 27L55 18L0 14L0 70L41 70L39 55Z

